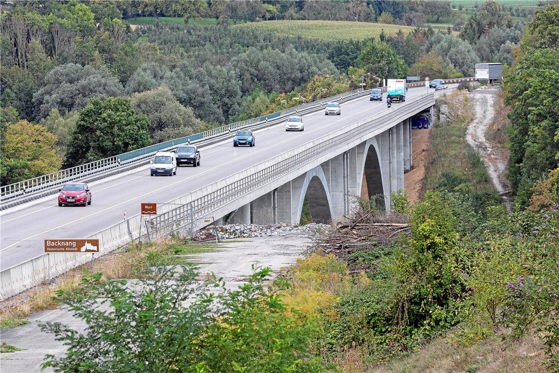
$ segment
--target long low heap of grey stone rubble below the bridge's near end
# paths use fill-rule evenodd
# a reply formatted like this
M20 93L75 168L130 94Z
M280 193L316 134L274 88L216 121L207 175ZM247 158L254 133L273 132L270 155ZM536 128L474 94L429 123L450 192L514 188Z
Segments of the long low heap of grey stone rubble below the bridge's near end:
M328 232L330 225L311 223L307 225L297 224L273 224L273 225L257 225L257 224L229 224L210 226L201 229L195 234L195 240L205 240L210 237L219 237L219 239L228 238L247 238L247 237L272 237L274 235L287 234L314 234L319 232Z

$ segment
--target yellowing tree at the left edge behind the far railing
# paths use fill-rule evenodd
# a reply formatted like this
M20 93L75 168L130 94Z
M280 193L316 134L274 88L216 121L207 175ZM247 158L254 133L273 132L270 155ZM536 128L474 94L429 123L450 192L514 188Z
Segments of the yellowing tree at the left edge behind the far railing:
M7 126L2 139L2 185L55 172L60 157L56 136L41 125L20 120Z

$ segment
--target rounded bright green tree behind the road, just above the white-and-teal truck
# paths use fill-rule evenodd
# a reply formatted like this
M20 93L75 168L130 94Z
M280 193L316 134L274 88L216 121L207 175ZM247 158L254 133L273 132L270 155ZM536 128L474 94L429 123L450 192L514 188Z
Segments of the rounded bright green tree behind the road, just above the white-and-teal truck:
M371 41L357 58L358 67L381 79L402 78L408 74L404 60L390 45Z

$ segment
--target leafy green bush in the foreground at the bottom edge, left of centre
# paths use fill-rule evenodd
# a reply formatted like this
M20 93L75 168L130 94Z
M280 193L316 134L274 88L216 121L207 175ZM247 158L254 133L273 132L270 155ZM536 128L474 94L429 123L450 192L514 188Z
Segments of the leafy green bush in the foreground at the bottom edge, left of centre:
M136 275L102 281L83 276L78 293L60 291L82 334L61 323L41 330L64 341L64 356L47 355L43 368L58 372L323 371L309 341L314 324L287 316L279 292L267 292L271 270L253 268L247 284L198 281L193 267L159 266L157 256ZM282 287L278 287L282 290ZM215 295L215 291L219 291Z

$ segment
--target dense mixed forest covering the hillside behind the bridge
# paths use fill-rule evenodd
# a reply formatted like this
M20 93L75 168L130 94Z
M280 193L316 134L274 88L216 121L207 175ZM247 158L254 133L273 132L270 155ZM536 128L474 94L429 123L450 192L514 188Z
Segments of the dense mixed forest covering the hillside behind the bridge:
M472 76L475 63L483 61L512 65L509 76L519 77L515 66L528 61L517 58L515 65L513 56L522 48L520 38L534 8L524 11L489 0L463 22L444 1L96 0L3 6L2 185L335 95L358 87L361 75L368 87L406 74ZM132 30L127 21L143 16L183 17L185 22L156 21ZM217 22L188 22L201 17ZM453 19L454 31L427 25L439 18ZM280 19L385 22L415 29L329 42L235 27ZM532 59L534 68L533 59L553 60L522 56ZM511 79L506 88L511 103L518 100L512 92L526 89L518 84ZM549 85L538 89L544 96L553 94ZM120 98L106 102L111 97ZM85 116L107 106L112 117ZM130 121L120 122L124 112L131 113ZM529 113L511 113L514 121L519 115L537 122ZM556 123L549 123L537 135L529 135L529 124L513 134L510 172L522 204L532 183L553 168ZM82 146L103 128L121 133ZM117 140L132 133L126 141ZM525 157L537 159L527 166Z

